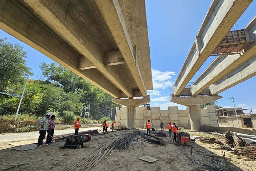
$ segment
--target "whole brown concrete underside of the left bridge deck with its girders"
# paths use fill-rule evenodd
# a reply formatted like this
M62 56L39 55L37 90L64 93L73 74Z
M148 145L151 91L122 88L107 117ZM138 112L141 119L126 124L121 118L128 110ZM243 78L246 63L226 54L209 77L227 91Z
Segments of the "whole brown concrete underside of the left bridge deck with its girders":
M1 0L0 29L115 98L153 89L145 1Z

